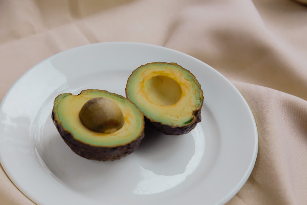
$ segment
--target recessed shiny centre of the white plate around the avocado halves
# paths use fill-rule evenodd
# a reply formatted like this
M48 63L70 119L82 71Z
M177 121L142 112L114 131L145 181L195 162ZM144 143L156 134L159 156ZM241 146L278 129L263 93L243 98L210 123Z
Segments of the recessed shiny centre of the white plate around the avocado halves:
M84 77L83 81L92 78L102 79L100 82L106 85L101 87L110 84L110 79L103 76ZM124 79L126 75L117 75L122 84ZM60 92L78 94L83 89L98 86L90 81L88 87L77 85L78 81L72 82ZM122 94L119 90L112 92ZM145 201L151 197L159 199L165 192L176 195L198 183L215 163L220 138L216 121L205 105L202 122L192 132L170 136L146 127L145 138L132 154L116 161L98 162L76 155L57 132L51 119L56 95L49 97L36 117L33 133L37 156L54 179L89 199L117 204L137 197L146 197Z

